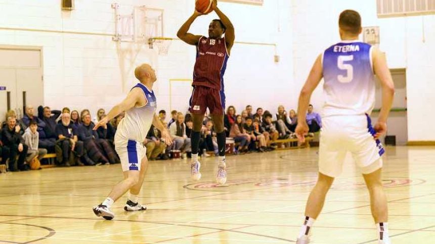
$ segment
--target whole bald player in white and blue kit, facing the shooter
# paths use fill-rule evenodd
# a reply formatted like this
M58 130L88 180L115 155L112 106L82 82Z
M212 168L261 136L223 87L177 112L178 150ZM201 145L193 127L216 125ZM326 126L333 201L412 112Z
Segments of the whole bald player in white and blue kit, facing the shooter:
M95 215L107 220L114 218L110 207L127 190L130 190L130 194L124 210L146 210L146 207L139 203L138 194L141 191L148 167L147 150L142 142L147 136L151 124L162 132L162 138L166 144L172 143L168 130L155 113L157 104L152 90L153 84L157 80L155 71L150 65L142 64L135 69L135 76L140 83L135 85L124 101L113 107L109 114L94 127L96 130L100 126L105 126L108 121L125 111L125 117L119 123L115 134L115 150L121 159L124 180L113 187L103 203L93 208Z

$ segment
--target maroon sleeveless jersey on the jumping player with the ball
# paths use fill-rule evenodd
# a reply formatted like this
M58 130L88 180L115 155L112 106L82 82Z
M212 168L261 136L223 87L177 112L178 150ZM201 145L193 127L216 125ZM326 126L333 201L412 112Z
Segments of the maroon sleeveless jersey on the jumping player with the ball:
M211 39L201 36L196 48L193 85L224 91L224 73L229 57L225 37Z

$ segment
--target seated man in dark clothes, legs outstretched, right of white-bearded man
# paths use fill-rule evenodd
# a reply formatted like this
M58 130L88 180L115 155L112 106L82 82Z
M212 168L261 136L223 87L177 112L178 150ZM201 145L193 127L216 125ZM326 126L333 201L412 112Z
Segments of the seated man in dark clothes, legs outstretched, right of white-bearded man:
M110 164L98 146L98 134L97 131L93 130L94 126L92 125L94 123L91 122L91 115L85 113L82 118L82 123L78 126L78 139L83 141L84 149L89 158L96 162L96 165ZM86 121L86 124L84 124L84 121Z

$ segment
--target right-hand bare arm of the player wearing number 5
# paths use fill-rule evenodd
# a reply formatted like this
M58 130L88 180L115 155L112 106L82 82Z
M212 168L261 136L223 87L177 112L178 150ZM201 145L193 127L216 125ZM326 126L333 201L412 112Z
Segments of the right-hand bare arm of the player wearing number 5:
M385 55L382 54L378 48L373 48L373 71L379 78L382 86L382 107L379 113L378 122L374 129L376 130L375 137L379 137L386 132L386 120L389 111L393 105L394 99L394 82L386 64Z

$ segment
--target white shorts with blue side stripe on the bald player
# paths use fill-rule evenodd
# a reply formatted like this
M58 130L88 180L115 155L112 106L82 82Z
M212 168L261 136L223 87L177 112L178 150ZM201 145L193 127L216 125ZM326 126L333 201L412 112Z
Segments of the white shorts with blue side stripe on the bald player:
M116 140L115 151L121 160L122 171L141 170L141 162L147 156L147 148L135 140Z

